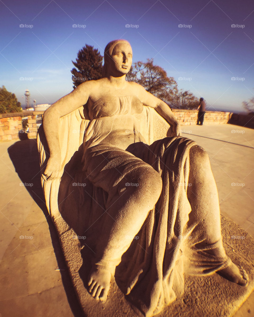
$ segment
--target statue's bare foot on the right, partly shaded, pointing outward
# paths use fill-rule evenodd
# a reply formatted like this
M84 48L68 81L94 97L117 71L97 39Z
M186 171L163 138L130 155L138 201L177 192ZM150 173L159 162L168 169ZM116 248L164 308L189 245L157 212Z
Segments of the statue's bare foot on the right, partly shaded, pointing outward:
M236 264L231 262L229 266L216 272L227 280L241 286L247 286L249 277L243 268L239 268Z

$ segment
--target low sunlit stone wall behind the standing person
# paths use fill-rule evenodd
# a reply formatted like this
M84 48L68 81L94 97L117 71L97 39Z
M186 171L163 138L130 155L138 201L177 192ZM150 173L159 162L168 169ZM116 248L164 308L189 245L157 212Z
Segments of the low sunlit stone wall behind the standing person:
M197 124L197 110L172 109L174 115L181 125ZM204 124L228 123L232 116L231 112L206 111L204 115Z

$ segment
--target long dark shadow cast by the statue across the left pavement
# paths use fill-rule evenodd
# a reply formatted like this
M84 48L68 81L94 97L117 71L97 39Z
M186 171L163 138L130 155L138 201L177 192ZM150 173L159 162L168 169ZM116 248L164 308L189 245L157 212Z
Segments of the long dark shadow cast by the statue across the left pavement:
M26 185L25 188L36 204L43 211L45 218L48 222L52 245L57 259L58 268L62 277L64 290L70 304L71 311L75 317L84 317L84 313L80 308L77 300L72 282L69 276L69 271L65 263L62 248L59 242L57 231L49 216L43 190L41 186L41 174L39 165L39 156L37 150L36 139L24 139L17 141L8 148L8 154L15 167L20 180L23 184L33 184L32 186Z

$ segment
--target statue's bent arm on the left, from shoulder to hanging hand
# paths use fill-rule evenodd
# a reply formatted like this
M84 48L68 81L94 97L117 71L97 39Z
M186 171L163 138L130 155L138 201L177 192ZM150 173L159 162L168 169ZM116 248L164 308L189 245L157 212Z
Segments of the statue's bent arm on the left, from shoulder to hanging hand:
M43 115L43 129L50 150L50 158L43 173L45 180L61 177L61 152L59 146L58 127L59 118L71 113L86 104L94 81L84 82L75 88L70 94L60 98L52 104Z

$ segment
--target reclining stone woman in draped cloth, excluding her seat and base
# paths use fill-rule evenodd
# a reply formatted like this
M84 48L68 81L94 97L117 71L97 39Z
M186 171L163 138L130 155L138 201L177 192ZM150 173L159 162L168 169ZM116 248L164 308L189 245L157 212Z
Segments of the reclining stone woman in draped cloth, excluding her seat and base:
M43 178L62 177L59 118L85 105L90 121L84 134L83 172L107 193L105 210L110 216L99 233L88 289L94 298L106 301L111 275L129 252L122 271L126 294L137 289L143 312L151 316L175 300L184 274L216 272L241 286L248 277L224 251L207 153L180 136L179 123L166 103L125 80L131 63L130 43L110 42L103 78L82 83L46 110L43 128L50 158ZM170 124L170 137L146 144L139 120L144 107L155 109Z

